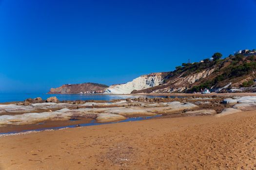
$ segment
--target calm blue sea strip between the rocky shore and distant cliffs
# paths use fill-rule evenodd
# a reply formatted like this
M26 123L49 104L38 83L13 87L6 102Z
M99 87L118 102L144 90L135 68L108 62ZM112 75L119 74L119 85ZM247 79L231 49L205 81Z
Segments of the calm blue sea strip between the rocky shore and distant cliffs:
M164 97L153 95L106 95L106 94L0 94L0 102L16 102L24 101L27 98L41 97L46 100L48 97L56 96L59 101L74 101L74 100L113 100L113 99L126 99L126 98L138 98L138 97Z

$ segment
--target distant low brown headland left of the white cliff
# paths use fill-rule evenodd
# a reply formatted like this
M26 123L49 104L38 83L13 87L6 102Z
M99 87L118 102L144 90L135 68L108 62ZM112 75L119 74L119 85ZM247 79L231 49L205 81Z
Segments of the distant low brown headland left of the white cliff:
M68 84L57 88L51 88L49 94L76 94L76 93L103 93L107 85L96 83Z

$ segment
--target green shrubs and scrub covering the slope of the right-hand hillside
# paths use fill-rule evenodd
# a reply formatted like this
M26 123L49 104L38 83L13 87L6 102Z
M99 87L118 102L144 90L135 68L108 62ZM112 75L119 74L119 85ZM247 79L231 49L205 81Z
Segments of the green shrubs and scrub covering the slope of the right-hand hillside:
M254 51L254 50L253 50ZM168 77L181 76L185 77L193 73L198 73L204 69L215 68L215 74L211 79L197 80L200 81L199 85L194 85L186 92L198 92L201 89L210 89L222 81L228 81L237 77L243 77L256 70L256 55L244 56L242 54L229 55L221 59L222 54L216 52L212 55L212 60L204 59L203 62L197 63L182 63L181 66L176 67L176 70L169 73ZM253 81L248 81L242 86L251 86Z

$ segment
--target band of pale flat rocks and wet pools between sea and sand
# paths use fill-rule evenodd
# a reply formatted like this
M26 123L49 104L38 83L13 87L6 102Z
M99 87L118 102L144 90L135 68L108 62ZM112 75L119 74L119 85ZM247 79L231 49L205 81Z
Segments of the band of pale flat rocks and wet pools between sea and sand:
M248 95L248 94L247 94ZM237 96L237 95L236 95ZM145 97L145 96L144 96ZM227 94L184 98L127 98L110 101L37 102L0 105L0 134L88 126L138 119L224 116L256 108L256 97ZM237 104L237 101L242 103ZM231 103L229 103L231 102ZM155 118L158 117L158 118Z

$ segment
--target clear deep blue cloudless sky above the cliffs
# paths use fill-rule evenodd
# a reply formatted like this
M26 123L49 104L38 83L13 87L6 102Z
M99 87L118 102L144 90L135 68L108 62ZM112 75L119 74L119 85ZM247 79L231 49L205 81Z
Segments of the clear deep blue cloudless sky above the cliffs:
M0 92L125 83L256 48L256 0L0 0Z

